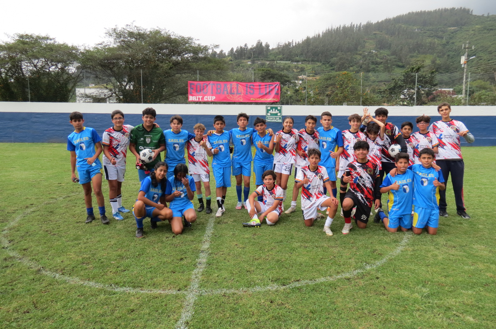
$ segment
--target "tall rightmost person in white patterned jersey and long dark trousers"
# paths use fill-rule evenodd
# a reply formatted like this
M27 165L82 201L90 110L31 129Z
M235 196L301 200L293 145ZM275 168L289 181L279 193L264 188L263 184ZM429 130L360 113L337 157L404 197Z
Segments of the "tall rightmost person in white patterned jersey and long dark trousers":
M448 181L451 173L451 184L455 194L456 213L462 218L469 219L465 212L463 201L463 174L465 164L463 163L460 149L460 136L465 141L472 143L475 138L469 133L467 127L461 121L450 118L451 105L440 103L437 105L437 112L441 115L441 120L434 122L429 131L434 133L438 145L438 153L435 156L436 164L441 167L444 182ZM439 216L448 217L446 212L446 190L439 191Z

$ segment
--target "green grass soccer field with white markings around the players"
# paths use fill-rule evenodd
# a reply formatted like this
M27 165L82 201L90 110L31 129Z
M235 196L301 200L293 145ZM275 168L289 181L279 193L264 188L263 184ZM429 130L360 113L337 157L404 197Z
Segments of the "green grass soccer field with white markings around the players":
M141 239L132 214L111 218L105 180L111 223L84 224L65 148L0 143L0 328L496 328L496 147L462 148L472 219L456 215L448 183L434 236L372 218L342 235L338 215L329 237L301 211L245 228L233 179L221 218L214 197L184 234L145 220ZM128 165L126 208L138 189Z

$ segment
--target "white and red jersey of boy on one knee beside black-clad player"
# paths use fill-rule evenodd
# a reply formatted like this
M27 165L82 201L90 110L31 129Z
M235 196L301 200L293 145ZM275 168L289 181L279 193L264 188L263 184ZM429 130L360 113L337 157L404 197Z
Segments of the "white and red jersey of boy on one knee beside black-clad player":
M327 170L322 166L317 166L315 171L311 171L309 166L303 167L298 171L295 182L302 182L306 177L310 182L302 186L302 209L309 209L324 195L324 184L329 181Z

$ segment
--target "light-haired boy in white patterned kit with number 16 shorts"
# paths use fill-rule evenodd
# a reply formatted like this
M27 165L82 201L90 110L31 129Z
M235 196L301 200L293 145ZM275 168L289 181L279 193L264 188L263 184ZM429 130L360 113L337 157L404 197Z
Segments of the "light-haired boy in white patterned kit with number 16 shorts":
M194 180L196 187L196 197L198 198L199 207L196 209L202 212L205 209L207 214L212 213L211 196L210 196L210 168L208 168L207 156L212 156L212 145L208 142L206 137L203 137L205 126L197 123L193 127L195 137L186 142L187 149L187 162L189 175ZM201 182L205 187L205 197L207 199L207 207L203 203L203 194L201 193Z

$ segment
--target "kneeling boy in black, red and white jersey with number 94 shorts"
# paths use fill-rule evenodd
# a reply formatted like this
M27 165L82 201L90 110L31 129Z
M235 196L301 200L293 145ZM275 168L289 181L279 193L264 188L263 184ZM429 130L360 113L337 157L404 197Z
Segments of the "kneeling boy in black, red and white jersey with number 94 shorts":
M343 217L345 225L341 233L348 234L353 228L351 225L351 210L357 207L354 218L359 229L365 229L369 222L372 206L379 208L380 204L380 177L379 167L367 158L369 143L357 141L353 145L356 161L350 162L346 168L341 184L350 183L350 189L343 200Z

